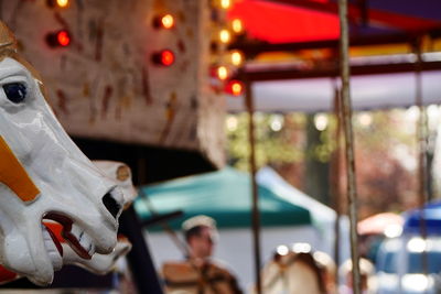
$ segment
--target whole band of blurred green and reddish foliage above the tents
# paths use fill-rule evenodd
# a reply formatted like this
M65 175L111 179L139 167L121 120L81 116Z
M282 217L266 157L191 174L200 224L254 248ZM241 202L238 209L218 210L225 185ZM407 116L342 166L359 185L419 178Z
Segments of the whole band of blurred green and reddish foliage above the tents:
M361 218L385 210L415 207L418 198L417 118L416 108L354 113ZM336 150L336 124L334 116L326 113L256 113L258 168L270 165L298 188L308 189L304 181L311 174L306 173L308 166L326 166ZM313 135L308 131L311 126L320 129ZM248 115L229 115L226 119L226 133L229 164L239 170L248 170ZM343 160L344 155L341 156ZM322 165L308 165L311 161ZM330 171L335 173L332 167ZM342 182L341 190L344 194L344 173L338 181ZM323 200L323 197L316 198ZM345 199L344 195L342 198Z

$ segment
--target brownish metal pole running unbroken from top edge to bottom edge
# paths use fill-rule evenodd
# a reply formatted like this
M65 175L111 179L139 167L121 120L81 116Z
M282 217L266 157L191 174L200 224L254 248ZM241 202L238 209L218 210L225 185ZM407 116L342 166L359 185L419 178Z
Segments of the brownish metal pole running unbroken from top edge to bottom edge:
M358 236L357 236L357 188L355 182L355 157L354 157L354 134L352 129L352 104L349 87L349 36L347 23L347 0L338 0L340 15L340 55L341 55L341 78L342 95L341 106L343 110L343 126L345 134L346 170L347 170L347 198L349 208L351 230L351 258L353 293L361 294Z

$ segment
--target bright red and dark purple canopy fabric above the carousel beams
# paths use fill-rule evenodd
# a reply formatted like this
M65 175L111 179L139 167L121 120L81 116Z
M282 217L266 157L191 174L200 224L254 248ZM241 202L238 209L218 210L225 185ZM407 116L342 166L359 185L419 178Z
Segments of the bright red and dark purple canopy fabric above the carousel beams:
M441 28L441 13L432 13L433 2L369 2L364 9L348 4L352 33L379 33L385 30L420 32ZM365 13L364 13L364 12ZM412 13L415 12L415 13ZM269 43L335 40L340 36L338 6L327 0L241 0L228 19L243 20L248 37ZM378 31L379 30L379 31Z

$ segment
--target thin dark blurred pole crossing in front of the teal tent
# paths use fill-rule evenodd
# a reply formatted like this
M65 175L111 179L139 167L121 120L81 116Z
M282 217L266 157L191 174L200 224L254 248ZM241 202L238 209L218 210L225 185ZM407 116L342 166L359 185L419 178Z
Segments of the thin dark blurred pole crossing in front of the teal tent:
M252 192L252 244L255 252L255 281L257 294L262 293L261 279L260 279L260 215L259 215L259 203L258 203L258 190L256 183L256 138L255 138L255 123L254 123L254 101L250 81L245 83L246 87L246 105L248 111L248 138L249 138L249 166L251 177L251 192Z

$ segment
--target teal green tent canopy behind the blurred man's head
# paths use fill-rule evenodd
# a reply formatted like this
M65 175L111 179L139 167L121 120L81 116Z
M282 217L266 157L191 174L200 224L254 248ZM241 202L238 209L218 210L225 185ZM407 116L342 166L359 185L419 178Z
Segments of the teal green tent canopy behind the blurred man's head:
M219 228L251 226L250 176L232 167L148 185L141 189L135 208L142 220L152 217L150 203L158 214L183 210L184 217L170 221L174 229L180 229L186 218L201 214L213 217ZM284 200L265 185L258 184L258 190L262 227L311 224L308 209ZM149 203L144 197L149 198Z

